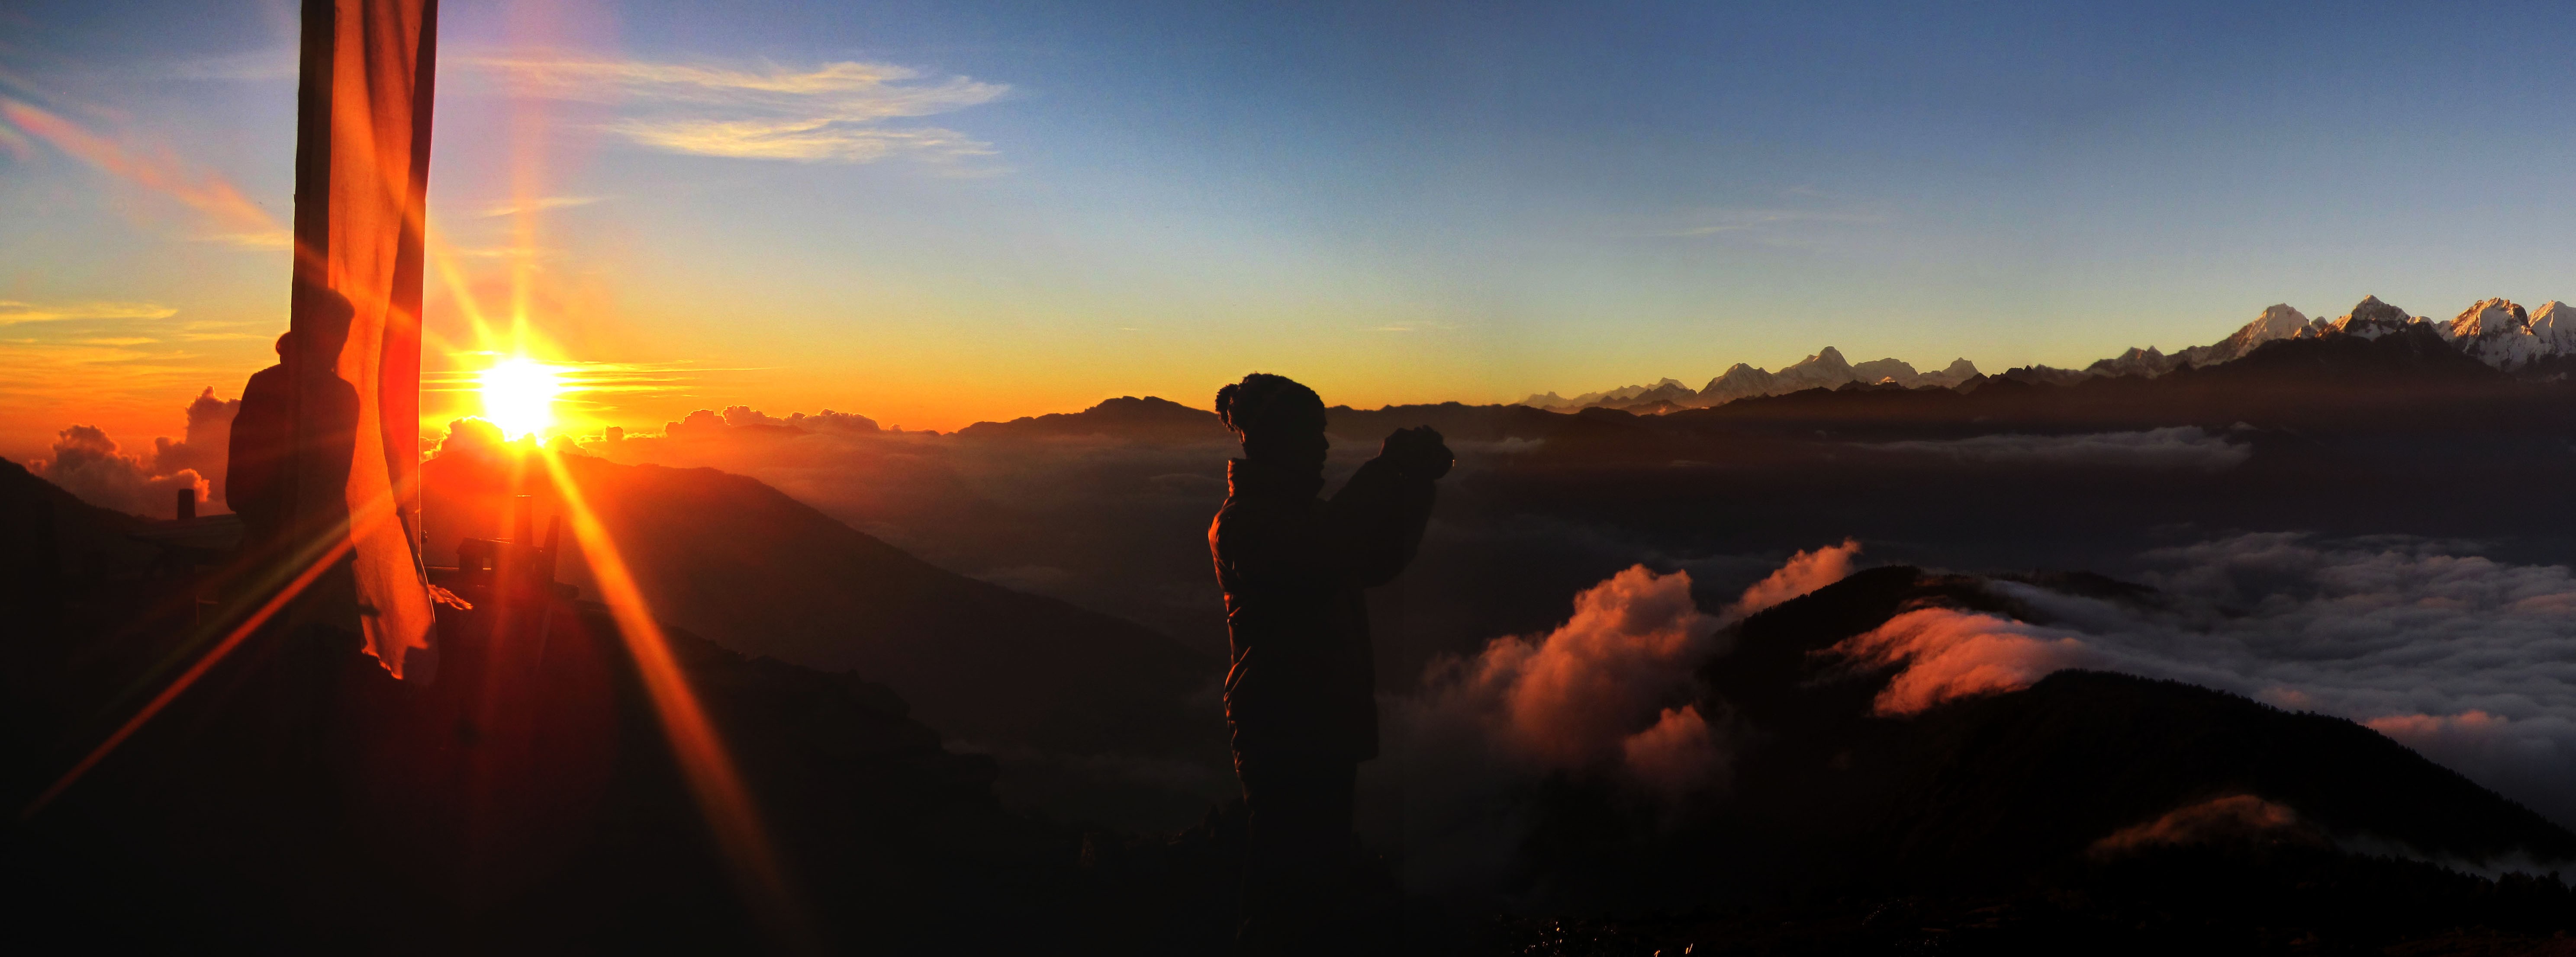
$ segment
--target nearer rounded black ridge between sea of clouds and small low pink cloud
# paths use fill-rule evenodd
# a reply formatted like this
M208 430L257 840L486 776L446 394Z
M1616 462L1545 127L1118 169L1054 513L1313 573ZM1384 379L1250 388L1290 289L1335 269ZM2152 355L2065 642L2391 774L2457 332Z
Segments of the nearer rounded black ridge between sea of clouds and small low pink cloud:
M2344 718L2102 671L1927 718L1886 834L1891 872L1914 880L2022 875L2228 795L2447 862L2576 862L2576 834Z

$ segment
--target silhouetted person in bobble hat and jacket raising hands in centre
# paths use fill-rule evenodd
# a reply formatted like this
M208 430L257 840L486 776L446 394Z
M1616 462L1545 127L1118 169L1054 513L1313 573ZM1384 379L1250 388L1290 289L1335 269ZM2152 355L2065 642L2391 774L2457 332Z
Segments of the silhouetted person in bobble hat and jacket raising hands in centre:
M1342 494L1324 491L1324 399L1252 373L1216 394L1244 440L1208 527L1226 587L1226 725L1252 834L1244 952L1311 952L1334 918L1355 839L1352 777L1378 756L1376 671L1360 589L1394 581L1422 543L1450 450L1430 427L1386 437Z

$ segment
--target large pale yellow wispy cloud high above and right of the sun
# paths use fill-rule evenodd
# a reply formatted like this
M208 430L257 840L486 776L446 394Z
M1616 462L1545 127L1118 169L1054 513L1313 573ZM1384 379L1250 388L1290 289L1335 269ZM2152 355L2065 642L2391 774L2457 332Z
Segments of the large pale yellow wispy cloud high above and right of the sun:
M510 95L623 105L629 116L608 131L649 149L793 162L909 157L951 172L992 172L961 165L992 157L992 144L953 129L886 121L951 113L1010 93L1007 85L969 77L909 82L922 75L863 62L734 69L507 54L466 57L464 64L500 75Z

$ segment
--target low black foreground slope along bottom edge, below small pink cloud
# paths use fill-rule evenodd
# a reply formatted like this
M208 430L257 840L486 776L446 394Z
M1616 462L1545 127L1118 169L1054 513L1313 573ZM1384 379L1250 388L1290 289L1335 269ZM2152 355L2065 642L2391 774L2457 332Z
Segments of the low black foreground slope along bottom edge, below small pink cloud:
M2566 954L2558 877L2483 880L2311 846L2192 846L1986 893L1504 921L1515 954Z

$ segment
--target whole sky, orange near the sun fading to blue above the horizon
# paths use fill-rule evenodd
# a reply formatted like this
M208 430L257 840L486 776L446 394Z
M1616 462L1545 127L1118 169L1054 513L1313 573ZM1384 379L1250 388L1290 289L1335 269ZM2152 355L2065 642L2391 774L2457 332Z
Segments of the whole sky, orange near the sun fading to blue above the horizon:
M2277 301L2576 298L2566 5L440 15L425 365L574 365L572 432L2084 365ZM294 28L0 3L0 455L149 445L270 363Z

